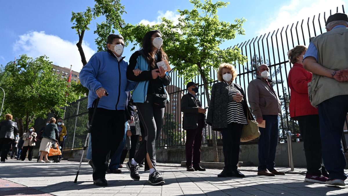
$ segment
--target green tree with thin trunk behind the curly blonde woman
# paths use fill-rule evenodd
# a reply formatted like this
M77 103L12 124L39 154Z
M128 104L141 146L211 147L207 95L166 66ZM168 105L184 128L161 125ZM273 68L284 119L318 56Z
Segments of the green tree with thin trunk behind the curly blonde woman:
M245 19L236 19L234 23L220 21L217 15L219 8L229 3L212 0L190 0L192 10L177 10L180 13L179 23L162 18L157 25L127 24L119 31L133 42L133 48L141 43L143 36L149 30L159 29L164 39L163 49L168 54L171 65L186 82L200 75L205 89L207 102L210 102L209 89L213 82L209 76L210 69L217 69L222 62L234 64L244 63L245 56L237 47L221 50L219 46L226 40L231 40L237 34L244 35L242 28ZM235 65L235 64L234 64ZM215 134L212 134L214 146L214 161L218 161Z

